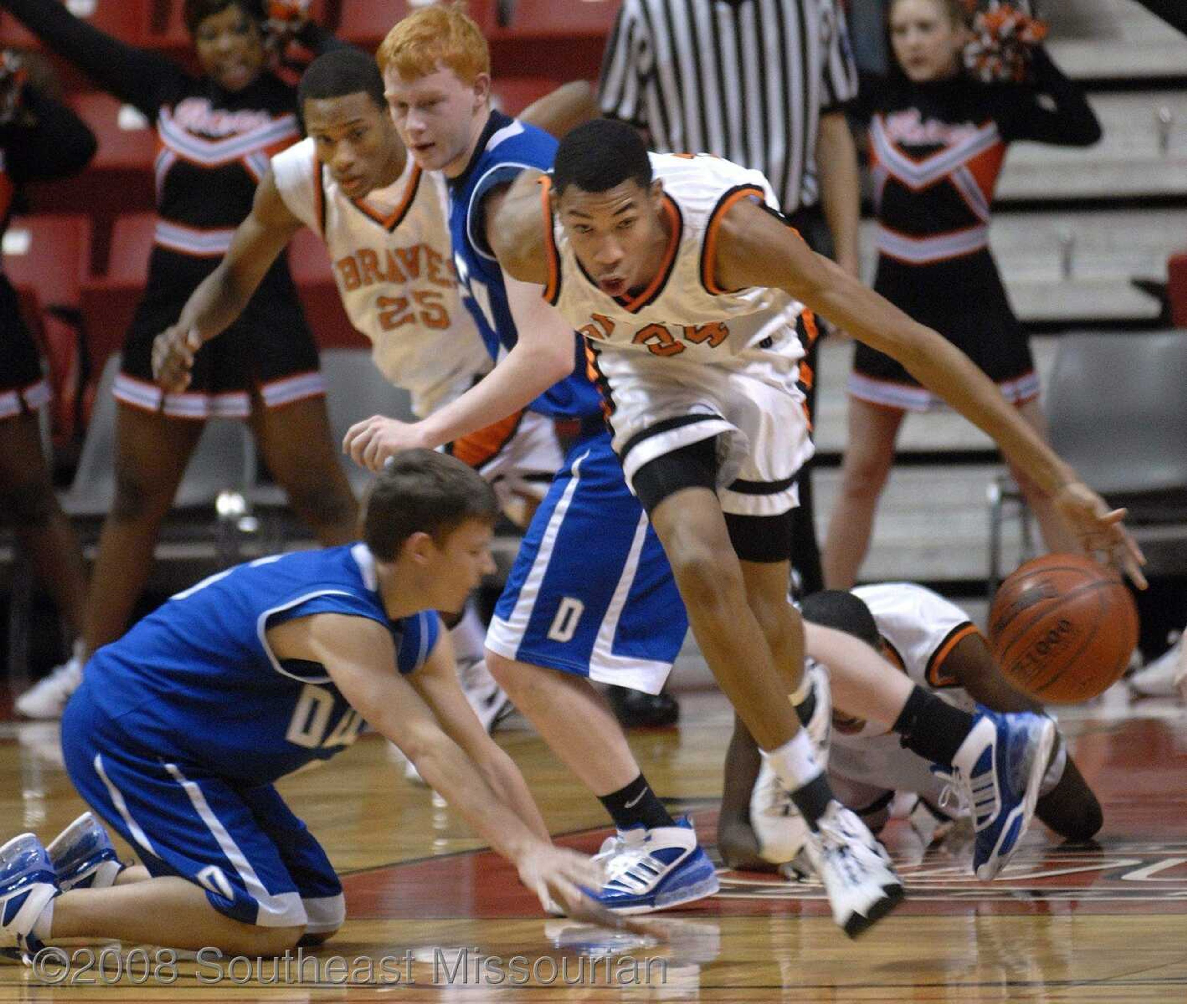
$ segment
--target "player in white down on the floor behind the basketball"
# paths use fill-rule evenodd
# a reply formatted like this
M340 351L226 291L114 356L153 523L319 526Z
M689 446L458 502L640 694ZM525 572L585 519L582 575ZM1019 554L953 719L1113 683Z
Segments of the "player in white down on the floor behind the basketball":
M904 707L919 687L970 717L975 701L998 712L1041 711L1005 680L984 635L965 612L923 586L883 583L851 592L827 590L807 597L801 611L808 673L831 674L834 666L859 661L886 678ZM838 631L851 637L838 637ZM844 674L833 686L833 699L855 700ZM944 811L947 780L931 769L928 758L875 722L834 712L832 723L829 780L837 798L872 831L886 824L896 790L918 794L935 819L951 818ZM1092 839L1102 826L1100 803L1062 736L1037 790L1035 815L1074 841ZM760 763L754 741L736 730L725 760L717 827L722 857L731 868L769 870L800 856L804 832L804 821L777 779Z

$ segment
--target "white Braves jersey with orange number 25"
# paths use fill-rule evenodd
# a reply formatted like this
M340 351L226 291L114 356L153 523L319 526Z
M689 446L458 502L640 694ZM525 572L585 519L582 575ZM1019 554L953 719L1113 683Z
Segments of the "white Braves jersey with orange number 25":
M408 390L418 415L490 369L458 294L439 174L410 157L394 183L353 199L318 163L311 139L273 157L272 172L285 205L325 241L342 304L370 338L376 367Z

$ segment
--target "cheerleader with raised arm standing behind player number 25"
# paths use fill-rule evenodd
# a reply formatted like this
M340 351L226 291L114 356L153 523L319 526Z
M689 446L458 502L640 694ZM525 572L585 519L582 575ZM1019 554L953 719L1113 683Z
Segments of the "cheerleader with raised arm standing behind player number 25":
M296 6L299 13L303 5ZM95 559L97 587L87 602L85 655L123 633L205 419L250 421L268 469L322 544L354 539L356 504L330 438L317 348L284 260L233 337L199 355L188 393L165 394L152 377L153 338L218 265L268 158L299 138L296 88L268 69L262 0L185 0L199 76L104 34L62 4L0 0L0 8L140 109L160 139L155 246L115 381L116 495ZM338 44L312 24L298 37L315 50ZM81 679L76 657L24 694L17 710L56 718Z

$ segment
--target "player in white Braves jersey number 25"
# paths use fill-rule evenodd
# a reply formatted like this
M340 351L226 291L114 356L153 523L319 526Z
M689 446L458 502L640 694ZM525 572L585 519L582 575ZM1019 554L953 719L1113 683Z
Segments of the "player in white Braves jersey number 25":
M545 119L547 102L533 106ZM227 256L158 336L154 375L170 390L184 389L201 345L240 314L292 236L309 227L325 242L342 304L372 341L376 367L425 417L493 364L458 297L444 182L407 155L370 56L343 49L313 61L298 107L307 138L272 158ZM504 510L539 502L563 459L553 421L527 408L446 450L490 482ZM483 637L470 602L451 640L463 688L489 729L509 704L485 669Z

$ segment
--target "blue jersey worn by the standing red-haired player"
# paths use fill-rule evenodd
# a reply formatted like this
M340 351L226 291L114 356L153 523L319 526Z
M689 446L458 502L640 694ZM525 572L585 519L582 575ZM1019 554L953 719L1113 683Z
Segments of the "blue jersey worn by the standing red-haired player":
M547 171L557 141L542 129L491 112L465 171L449 182L449 225L462 298L496 362L515 348L519 335L507 303L499 261L485 239L482 199L525 169ZM573 371L532 402L532 411L558 418L592 415L602 408L597 387L585 375L585 350L573 333Z

